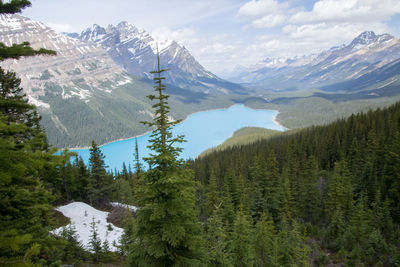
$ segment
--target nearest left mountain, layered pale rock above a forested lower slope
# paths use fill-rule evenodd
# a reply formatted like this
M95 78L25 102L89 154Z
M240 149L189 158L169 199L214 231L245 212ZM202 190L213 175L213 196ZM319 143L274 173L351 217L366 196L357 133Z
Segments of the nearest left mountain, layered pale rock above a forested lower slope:
M0 15L0 42L30 42L56 56L0 62L15 71L29 102L39 108L49 142L59 147L98 143L140 134L151 119L146 95L152 86L129 75L95 44L58 34L20 15ZM147 90L147 91L146 91Z

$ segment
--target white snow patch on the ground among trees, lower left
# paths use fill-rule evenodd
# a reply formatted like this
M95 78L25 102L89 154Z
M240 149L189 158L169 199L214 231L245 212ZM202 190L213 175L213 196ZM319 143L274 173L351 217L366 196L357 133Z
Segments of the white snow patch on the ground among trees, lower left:
M91 223L94 218L101 243L103 244L103 242L107 240L110 250L117 250L114 246L114 241L115 244L120 244L120 239L124 230L107 222L108 212L97 210L83 202L72 202L68 205L58 207L56 210L60 211L65 217L70 218L71 224L75 227L76 233L79 236L78 240L85 249L90 249L89 240L92 235ZM111 231L109 231L109 224L112 227ZM69 227L69 225L67 225L67 227ZM52 233L61 235L62 230L63 227L60 227L53 230Z

